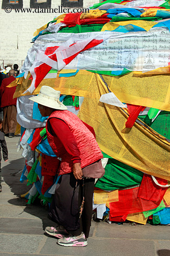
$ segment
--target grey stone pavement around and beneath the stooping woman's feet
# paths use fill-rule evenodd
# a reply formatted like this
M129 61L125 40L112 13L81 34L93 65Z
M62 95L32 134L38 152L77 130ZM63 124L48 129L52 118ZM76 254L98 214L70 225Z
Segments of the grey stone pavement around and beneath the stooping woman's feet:
M0 256L170 256L170 226L123 225L93 222L87 247L63 247L44 233L53 225L41 205L25 206L20 198L29 190L20 183L24 158L19 138L6 138L9 161L2 160L0 193Z

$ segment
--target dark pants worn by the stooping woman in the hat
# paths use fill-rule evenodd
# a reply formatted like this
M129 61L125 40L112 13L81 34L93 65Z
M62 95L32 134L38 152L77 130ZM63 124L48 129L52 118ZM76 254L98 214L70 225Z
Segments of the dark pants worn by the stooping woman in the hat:
M88 238L92 218L94 179L85 178L84 186L82 185L83 181L78 180L76 187L73 173L61 175L50 206L49 217L63 225L70 234L79 236L83 232ZM84 208L79 218L83 196Z

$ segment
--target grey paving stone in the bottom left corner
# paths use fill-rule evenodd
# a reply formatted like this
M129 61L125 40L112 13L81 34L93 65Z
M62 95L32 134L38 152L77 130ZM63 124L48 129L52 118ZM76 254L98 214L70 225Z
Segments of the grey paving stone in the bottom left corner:
M30 253L37 251L44 236L0 234L0 252Z

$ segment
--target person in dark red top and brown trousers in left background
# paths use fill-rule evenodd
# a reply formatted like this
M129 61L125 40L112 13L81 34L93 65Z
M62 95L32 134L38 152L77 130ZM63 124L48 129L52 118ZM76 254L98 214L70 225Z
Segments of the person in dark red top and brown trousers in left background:
M1 108L3 110L3 122L2 128L9 138L14 137L14 133L17 127L17 109L16 103L17 99L13 99L13 94L16 90L16 86L7 87L12 82L15 81L16 73L15 70L11 69L9 71L9 77L2 80L0 87L0 97L1 97Z

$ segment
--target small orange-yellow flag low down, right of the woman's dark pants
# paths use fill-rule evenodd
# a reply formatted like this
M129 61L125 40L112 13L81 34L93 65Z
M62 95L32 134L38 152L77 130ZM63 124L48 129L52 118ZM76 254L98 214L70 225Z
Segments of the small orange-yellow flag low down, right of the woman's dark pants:
M117 202L119 201L118 190L112 192L105 192L101 190L94 190L94 203L103 204L108 202Z

